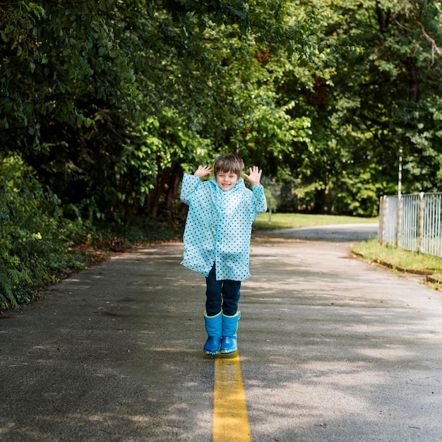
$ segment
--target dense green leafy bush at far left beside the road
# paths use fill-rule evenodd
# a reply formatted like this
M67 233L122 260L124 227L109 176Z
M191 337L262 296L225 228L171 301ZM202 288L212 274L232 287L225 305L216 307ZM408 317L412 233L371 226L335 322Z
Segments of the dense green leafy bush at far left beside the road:
M68 249L85 232L34 173L16 155L0 159L0 310L29 302L75 265Z

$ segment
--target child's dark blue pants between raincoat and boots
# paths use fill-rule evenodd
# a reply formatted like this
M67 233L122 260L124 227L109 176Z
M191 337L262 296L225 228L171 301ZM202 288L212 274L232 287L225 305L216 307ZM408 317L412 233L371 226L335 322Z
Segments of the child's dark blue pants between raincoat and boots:
M215 277L215 264L208 277L205 278L205 312L207 316L215 316L221 309L227 316L233 316L238 310L239 289L241 281L221 280Z

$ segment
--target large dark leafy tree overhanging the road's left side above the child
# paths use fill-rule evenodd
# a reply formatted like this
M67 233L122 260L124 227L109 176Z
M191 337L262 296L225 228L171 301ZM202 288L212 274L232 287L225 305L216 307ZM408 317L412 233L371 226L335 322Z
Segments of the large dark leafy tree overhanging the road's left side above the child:
M143 202L156 213L186 165L227 149L253 156L253 137L291 128L285 112L266 115L278 107L256 61L308 52L313 20L290 23L289 7L11 1L2 11L1 150L20 151L63 201L100 216Z

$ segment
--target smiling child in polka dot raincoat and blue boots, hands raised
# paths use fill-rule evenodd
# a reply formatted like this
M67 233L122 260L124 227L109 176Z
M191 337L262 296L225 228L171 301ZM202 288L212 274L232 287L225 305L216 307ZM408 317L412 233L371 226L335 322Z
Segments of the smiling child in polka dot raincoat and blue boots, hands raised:
M267 210L262 170L253 166L244 177L244 162L237 155L222 155L210 167L198 167L195 174L184 174L181 201L189 205L184 229L182 265L205 276L204 322L208 340L205 354L237 351L239 289L250 277L249 249L251 225L256 215Z

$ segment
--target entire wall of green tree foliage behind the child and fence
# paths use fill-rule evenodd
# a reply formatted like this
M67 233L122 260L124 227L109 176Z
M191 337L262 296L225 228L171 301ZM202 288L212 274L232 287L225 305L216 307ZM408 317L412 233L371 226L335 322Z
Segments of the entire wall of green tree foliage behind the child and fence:
M183 172L220 153L263 167L278 210L376 215L400 152L404 193L440 190L441 40L437 2L6 2L0 179L32 216L5 186L4 296L94 224L180 225Z

